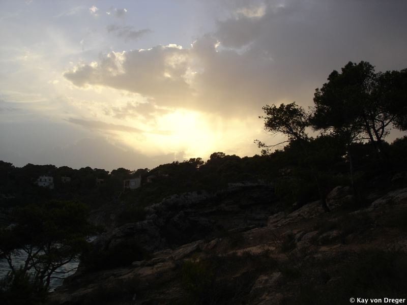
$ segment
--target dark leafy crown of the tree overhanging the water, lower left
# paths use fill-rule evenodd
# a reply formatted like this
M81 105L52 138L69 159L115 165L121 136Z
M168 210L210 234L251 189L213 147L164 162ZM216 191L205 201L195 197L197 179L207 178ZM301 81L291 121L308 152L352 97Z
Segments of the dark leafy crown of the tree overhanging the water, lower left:
M77 258L86 248L85 237L92 232L85 205L72 201L48 201L17 208L11 215L13 226L2 229L0 253L13 276L19 269L13 254L26 255L21 272L34 273L34 282L48 288L52 278L61 277L60 267Z

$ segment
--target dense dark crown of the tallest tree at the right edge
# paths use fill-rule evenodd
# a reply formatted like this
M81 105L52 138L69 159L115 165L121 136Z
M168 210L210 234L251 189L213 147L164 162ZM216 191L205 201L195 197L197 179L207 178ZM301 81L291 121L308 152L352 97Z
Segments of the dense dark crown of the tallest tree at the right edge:
M405 123L406 84L406 70L375 73L367 62L349 62L315 90L311 123L343 137L348 146L367 138L380 153L391 126L402 129Z

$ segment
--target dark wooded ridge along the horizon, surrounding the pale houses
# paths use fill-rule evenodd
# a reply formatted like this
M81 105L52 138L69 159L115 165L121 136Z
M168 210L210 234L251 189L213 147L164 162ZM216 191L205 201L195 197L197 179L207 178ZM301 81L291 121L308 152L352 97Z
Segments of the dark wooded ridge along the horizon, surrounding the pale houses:
M91 167L72 169L54 165L27 164L15 167L0 161L0 203L3 206L24 205L41 202L45 198L81 200L95 207L117 199L120 195L124 199L129 197L129 194L122 194L123 180L135 177L141 177L141 187L132 192L130 197L155 200L163 194L214 190L226 187L228 182L256 181L267 175L268 159L267 156L240 158L213 153L207 162L201 158L191 158L163 164L151 170L118 168L111 172ZM53 177L54 189L36 185L42 175ZM69 177L70 181L63 182L62 177ZM157 194L150 198L151 193Z

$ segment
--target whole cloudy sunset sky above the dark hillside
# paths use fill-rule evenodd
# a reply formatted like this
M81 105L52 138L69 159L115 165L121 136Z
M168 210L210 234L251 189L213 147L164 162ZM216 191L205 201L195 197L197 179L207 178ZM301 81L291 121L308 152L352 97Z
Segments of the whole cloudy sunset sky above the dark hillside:
M312 106L349 61L407 68L405 13L405 0L0 0L0 160L259 154L254 139L282 139L266 104Z

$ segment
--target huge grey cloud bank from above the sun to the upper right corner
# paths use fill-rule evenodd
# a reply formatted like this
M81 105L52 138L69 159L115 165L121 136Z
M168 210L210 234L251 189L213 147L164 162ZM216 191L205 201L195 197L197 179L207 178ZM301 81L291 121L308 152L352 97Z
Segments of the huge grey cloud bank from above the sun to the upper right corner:
M404 68L405 1L221 3L231 13L189 48L110 52L64 76L79 87L137 93L158 107L245 117L265 104L311 105L314 89L349 60Z

